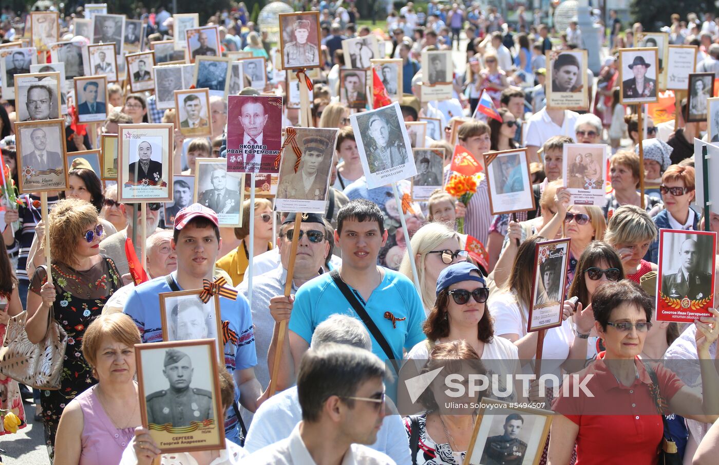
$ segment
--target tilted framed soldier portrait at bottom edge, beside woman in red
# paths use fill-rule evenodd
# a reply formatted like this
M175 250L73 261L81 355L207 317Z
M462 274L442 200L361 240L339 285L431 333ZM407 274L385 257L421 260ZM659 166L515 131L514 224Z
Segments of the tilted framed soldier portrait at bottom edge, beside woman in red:
M482 398L465 464L539 464L553 412Z

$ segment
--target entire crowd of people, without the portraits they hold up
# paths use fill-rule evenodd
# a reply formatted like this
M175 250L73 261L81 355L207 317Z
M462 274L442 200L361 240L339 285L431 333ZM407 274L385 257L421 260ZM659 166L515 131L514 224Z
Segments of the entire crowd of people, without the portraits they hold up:
M27 312L30 343L46 338L53 325L68 335L60 389L28 391L14 379L0 380L0 407L19 417L19 425L6 421L4 432L42 424L56 465L145 465L160 456L168 465L462 464L474 443L477 412L446 412L444 400L430 389L418 400L423 412L398 415L390 400L393 376L384 362L420 360L431 371L446 361L463 361L484 373L482 360L533 361L538 333L528 333L527 319L536 244L570 238L563 322L546 330L542 369L592 374L601 396L591 402L625 405L626 413L580 415L576 399L559 389L531 389L529 399L557 412L546 443L533 452L536 459L552 465L659 464L659 446L669 435L678 448L672 463L715 463L719 312L712 309L687 324L657 321L654 312L659 230L705 230L708 222L708 230L719 233L719 214L695 205L702 180L695 179L693 138L706 137L707 124L684 121L687 99L677 101L676 117L666 122L655 124L644 114L646 129L639 127L635 108L620 104L615 49L631 47L642 24L623 30L616 13L610 14L610 32L603 37L608 53L599 75L587 76L596 83L587 88L590 107L574 112L545 107L545 53L583 48L577 22L556 30L541 11L530 14L520 6L510 24L495 7L431 0L391 9L386 27L372 30L355 25L359 13L352 3L313 0L296 11L311 9L320 12L324 66L313 79L310 125L339 132L326 212L301 215L298 238L293 238L296 214L275 212L273 200L262 197L254 205L244 201L242 225L219 227L216 212L193 203L184 181L173 186L173 210L172 202L143 209L118 202L117 186L101 181L82 158L68 166L69 189L47 194L47 224L41 221L39 193L3 204L0 302L6 308L0 328ZM80 8L61 18L63 40L73 38L73 20L82 17ZM173 17L163 8L143 10L137 19L147 24L148 42L173 31ZM603 24L600 15L594 19ZM4 8L1 21L3 42L22 36L22 17ZM670 22L672 43L697 45L700 66L719 76L713 15L692 13L686 21L672 15ZM207 24L221 26L226 51L278 53L242 3ZM388 58L403 60L399 104L405 121L439 119L439 133L428 133L424 145L446 153L446 179L452 174L453 138L480 164L490 151L526 148L536 210L492 215L483 173L474 176L476 191L468 202L438 189L428 202L398 205L392 186L368 189L360 136L349 125L355 110L338 96L342 41L365 35L377 35ZM454 54L452 99L422 99L422 52L459 49L464 37L462 63ZM242 94L286 95L285 72L275 70L272 59L267 63L267 87L245 88ZM118 84L108 90L107 118L98 133L78 135L68 120L68 153L99 148L100 136L116 134L119 124L175 122L175 109L157 109L152 91L131 93ZM472 117L485 91L501 121ZM287 107L287 100L283 127L296 126L300 110ZM1 103L2 163L17 185L22 172L13 125L17 109L14 100ZM225 156L225 99L211 99L210 116L211 137L191 139L175 130L177 174L195 175L196 158ZM562 183L563 146L570 143L611 146L603 207L570 203ZM582 161L569 161L569 169L573 163ZM400 181L398 188L408 194L409 185ZM139 256L139 228L147 231L150 280L135 285L126 239L135 238ZM297 250L288 276L293 240ZM162 341L158 294L202 289L204 281L220 276L239 292L236 299L219 297L226 447L161 454L152 431L142 427L145 399L138 394L134 346ZM687 281L679 285L690 286ZM285 285L291 287L289 297ZM664 358L696 361L699 368L682 376L642 362ZM630 363L603 364L609 360ZM192 368L187 381L173 378L171 370L182 364L187 360L180 353L157 367L176 397L157 399L154 415L173 410L189 415L206 402L202 393L188 394ZM273 372L277 394L268 389ZM28 407L26 416L23 402L30 397L35 407ZM655 401L661 410L633 415L631 407L653 407ZM521 426L521 415L507 423L518 421ZM507 432L485 448L482 464L519 463L526 446ZM528 460L521 463L538 463Z

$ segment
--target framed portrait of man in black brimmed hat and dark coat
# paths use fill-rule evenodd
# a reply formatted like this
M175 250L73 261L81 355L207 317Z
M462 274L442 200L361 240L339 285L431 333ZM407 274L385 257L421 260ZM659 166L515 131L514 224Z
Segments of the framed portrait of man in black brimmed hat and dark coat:
M657 101L659 60L654 48L620 48L620 104L653 104Z

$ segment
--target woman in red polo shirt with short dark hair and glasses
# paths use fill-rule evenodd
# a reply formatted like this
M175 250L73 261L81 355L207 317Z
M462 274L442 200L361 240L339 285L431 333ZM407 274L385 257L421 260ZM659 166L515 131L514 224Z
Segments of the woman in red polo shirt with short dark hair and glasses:
M711 317L695 320L705 393L702 397L663 365L651 364L651 374L638 357L651 328L653 306L651 297L628 279L602 284L592 296L595 330L603 338L606 351L600 352L576 379L567 379L571 389L562 389L572 393L584 385L593 397L562 393L554 401L554 411L562 415L557 415L551 425L549 464L568 464L574 443L577 465L613 464L618 460L623 464L658 464L663 424L652 394L653 377L666 410L706 423L716 419L711 414L719 412L719 374L709 346L719 335L715 328L719 312L711 309ZM587 380L589 375L593 376Z

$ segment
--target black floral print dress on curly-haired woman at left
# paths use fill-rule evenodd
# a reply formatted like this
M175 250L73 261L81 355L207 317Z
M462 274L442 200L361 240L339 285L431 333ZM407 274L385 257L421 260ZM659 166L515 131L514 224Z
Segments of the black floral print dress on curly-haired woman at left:
M35 271L30 292L40 294L47 282L45 267ZM78 394L96 384L92 369L83 357L81 346L88 325L99 317L107 299L122 286L120 274L111 258L103 257L88 270L77 271L65 263L52 263L52 282L57 298L52 304L55 320L68 333L65 364L60 378L60 389L40 391L42 422L45 424L45 444L50 461L55 456L55 434L60 415Z

